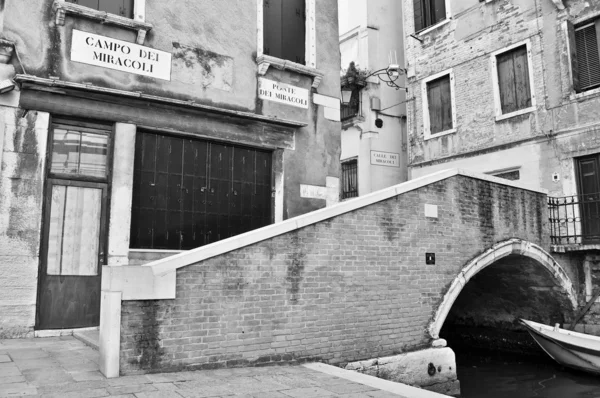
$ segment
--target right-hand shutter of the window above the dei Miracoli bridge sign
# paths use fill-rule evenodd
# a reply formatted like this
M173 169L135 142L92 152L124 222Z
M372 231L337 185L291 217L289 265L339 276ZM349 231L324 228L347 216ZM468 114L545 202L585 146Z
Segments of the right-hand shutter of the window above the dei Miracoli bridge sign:
M285 0L283 5L282 57L305 63L306 13L304 0Z

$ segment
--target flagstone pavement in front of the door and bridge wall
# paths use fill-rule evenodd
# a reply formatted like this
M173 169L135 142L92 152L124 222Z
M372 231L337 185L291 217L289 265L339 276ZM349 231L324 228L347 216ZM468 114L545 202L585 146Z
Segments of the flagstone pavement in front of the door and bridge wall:
M337 368L323 364L107 379L100 373L98 361L98 351L72 336L0 340L0 397L442 397L397 383L382 387L378 383L391 382L341 369L339 372L348 372L344 375L350 377L338 377L333 375ZM334 369L334 373L315 370L318 366ZM352 375L358 375L362 382L348 380ZM398 390L396 385L404 389Z

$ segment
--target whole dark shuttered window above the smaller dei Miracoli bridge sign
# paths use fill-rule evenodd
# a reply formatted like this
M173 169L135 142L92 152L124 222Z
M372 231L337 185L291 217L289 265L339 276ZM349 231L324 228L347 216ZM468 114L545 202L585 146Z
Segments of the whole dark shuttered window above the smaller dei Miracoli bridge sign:
M263 1L263 51L305 64L306 7L304 0Z

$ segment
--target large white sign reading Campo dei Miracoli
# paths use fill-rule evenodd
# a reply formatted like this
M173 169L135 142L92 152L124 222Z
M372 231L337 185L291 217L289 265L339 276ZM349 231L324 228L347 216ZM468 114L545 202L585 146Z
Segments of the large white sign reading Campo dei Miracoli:
M73 29L71 61L171 80L171 54Z

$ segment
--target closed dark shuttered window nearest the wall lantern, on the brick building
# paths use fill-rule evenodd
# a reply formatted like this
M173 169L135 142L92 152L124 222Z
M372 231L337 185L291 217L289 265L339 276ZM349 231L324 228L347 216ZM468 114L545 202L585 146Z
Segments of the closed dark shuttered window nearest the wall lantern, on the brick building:
M427 105L431 134L452 129L450 75L427 82Z

